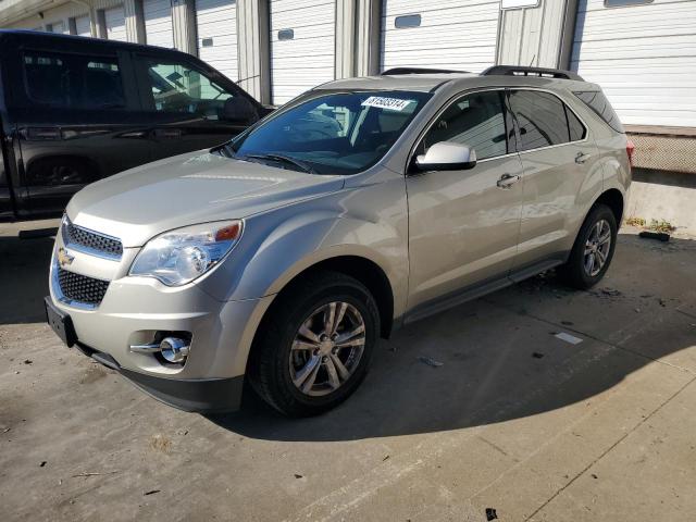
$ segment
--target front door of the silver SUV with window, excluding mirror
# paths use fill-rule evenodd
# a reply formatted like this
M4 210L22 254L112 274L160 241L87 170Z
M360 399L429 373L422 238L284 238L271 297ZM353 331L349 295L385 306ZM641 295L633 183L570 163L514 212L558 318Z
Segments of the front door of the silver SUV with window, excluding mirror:
M465 144L477 163L463 171L409 173L409 308L418 311L505 278L517 252L522 184L505 91L472 92L436 117L417 147ZM500 183L499 183L500 182Z

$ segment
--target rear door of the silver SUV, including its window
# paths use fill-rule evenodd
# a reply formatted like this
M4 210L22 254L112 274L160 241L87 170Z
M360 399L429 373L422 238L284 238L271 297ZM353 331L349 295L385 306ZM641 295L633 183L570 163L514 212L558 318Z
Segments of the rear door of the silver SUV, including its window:
M518 126L523 207L514 271L563 260L587 204L601 188L601 165L591 130L552 92L511 89Z

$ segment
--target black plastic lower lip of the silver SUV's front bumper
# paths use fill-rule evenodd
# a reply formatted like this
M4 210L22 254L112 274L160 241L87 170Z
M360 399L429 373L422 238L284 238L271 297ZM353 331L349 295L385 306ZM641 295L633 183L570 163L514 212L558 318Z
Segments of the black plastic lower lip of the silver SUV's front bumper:
M75 345L84 355L115 370L139 389L157 400L179 410L199 413L237 411L241 405L244 375L231 378L162 378L127 370L109 353L89 346Z

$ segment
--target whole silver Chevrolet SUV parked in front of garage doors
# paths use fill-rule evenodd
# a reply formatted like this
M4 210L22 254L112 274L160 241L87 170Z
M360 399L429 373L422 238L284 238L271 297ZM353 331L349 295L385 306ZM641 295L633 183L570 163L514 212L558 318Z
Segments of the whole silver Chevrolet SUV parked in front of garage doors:
M78 192L48 319L175 407L234 410L247 380L278 411L316 414L406 323L551 268L597 283L631 152L573 73L332 82L221 147Z

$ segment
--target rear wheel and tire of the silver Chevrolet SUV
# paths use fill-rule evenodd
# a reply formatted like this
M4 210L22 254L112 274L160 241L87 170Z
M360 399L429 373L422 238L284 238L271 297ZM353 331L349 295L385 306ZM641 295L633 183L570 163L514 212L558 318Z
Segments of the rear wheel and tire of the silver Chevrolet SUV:
M609 245L599 245L595 241L595 234L601 227L602 233L599 238L605 236L606 225L608 225ZM589 244L588 244L589 241ZM606 204L597 204L593 207L585 217L583 226L581 226L575 244L571 250L570 257L566 264L558 270L561 278L573 288L586 290L595 286L607 273L613 251L617 246L617 219L613 212ZM595 252L586 253L586 248L595 249ZM601 262L604 256L604 264L597 270L597 264L592 263L587 256L594 254L595 262ZM588 268L592 266L591 270Z

